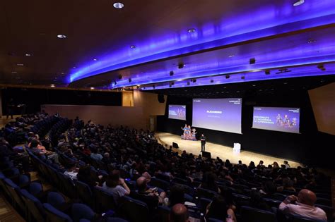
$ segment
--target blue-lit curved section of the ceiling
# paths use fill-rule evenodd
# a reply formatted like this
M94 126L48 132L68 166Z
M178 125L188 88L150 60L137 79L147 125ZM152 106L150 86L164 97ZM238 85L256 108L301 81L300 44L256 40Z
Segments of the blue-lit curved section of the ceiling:
M112 88L158 82L170 87L172 81L335 61L335 1L305 1L298 7L291 2L268 1L216 23L189 26L196 30L192 33L185 27L178 34L148 36L134 49L117 49L89 61L69 76L69 82L88 87L107 79ZM256 63L249 65L249 58L256 58ZM178 69L179 63L186 66Z

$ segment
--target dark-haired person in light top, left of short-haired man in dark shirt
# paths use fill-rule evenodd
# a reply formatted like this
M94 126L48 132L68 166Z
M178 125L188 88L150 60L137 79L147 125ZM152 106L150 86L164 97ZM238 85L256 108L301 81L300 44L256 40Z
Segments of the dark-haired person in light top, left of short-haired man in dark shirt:
M127 184L124 183L124 179L120 178L118 170L112 171L105 183L102 184L102 188L112 193L116 204L119 203L120 197L130 194L130 189Z

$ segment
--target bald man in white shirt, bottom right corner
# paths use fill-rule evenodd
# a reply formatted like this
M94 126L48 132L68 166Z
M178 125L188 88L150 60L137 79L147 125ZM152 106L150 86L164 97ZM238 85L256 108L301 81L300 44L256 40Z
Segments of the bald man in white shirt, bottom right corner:
M290 195L281 202L279 209L285 214L298 214L306 218L327 221L326 213L319 207L314 206L317 196L314 192L302 189L298 197Z

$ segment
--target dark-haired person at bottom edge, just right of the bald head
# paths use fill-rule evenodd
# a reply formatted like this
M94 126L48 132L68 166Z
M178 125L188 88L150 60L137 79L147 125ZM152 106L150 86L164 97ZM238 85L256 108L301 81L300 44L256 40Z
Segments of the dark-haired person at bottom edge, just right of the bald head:
M221 195L214 197L213 201L208 204L206 218L216 218L226 222L236 221L234 211L228 207L227 202Z

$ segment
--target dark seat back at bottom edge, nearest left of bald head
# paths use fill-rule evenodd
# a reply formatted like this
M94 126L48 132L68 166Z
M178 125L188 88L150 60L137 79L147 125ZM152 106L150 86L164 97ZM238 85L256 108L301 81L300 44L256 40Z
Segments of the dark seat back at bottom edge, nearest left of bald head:
M139 200L124 196L119 206L118 214L126 218L129 222L146 222L149 221L148 206Z

